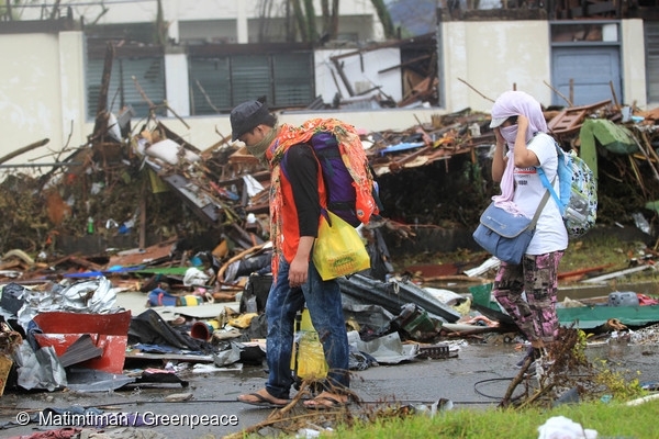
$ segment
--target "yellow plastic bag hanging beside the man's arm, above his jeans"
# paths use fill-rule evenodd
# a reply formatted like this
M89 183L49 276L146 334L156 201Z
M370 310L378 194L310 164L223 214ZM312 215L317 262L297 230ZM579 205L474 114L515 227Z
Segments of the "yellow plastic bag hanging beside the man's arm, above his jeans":
M327 217L321 218L312 255L321 278L327 281L370 268L368 251L355 227L330 211Z

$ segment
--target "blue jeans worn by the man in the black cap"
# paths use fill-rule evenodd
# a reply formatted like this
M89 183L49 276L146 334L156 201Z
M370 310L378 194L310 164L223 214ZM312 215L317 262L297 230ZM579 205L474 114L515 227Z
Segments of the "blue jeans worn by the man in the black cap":
M266 318L268 338L266 356L269 368L266 389L277 398L289 398L293 384L291 356L295 314L309 308L311 323L323 345L328 372L323 387L333 393L349 387L349 347L338 281L323 281L313 262L309 262L309 278L301 288L290 288L290 264L281 259L276 282L272 283Z

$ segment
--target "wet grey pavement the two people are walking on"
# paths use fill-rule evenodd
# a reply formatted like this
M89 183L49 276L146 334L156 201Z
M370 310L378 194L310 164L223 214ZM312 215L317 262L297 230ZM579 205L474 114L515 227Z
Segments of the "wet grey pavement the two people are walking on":
M394 401L403 405L429 404L440 398L450 399L454 409L495 407L517 373L514 364L522 352L518 345L504 342L504 335L483 337L488 339L487 342L471 339L460 344L455 358L417 359L354 372L351 389L365 402L364 407ZM659 382L657 344L599 341L589 346L587 354L591 361L607 359L616 370L637 378L641 383ZM236 401L239 394L255 392L264 385L266 375L261 367L246 365L241 371L213 373L186 371L179 376L189 382L187 387L172 384L155 389L129 385L103 393L5 392L1 397L0 423L4 429L0 431L0 437L26 436L62 428L60 425L40 425L35 414L46 408L81 406L97 407L104 414L138 414L152 426L136 427L136 430L148 432L152 437L172 439L224 437L265 420L271 413L271 409ZM362 408L351 406L351 409ZM16 419L25 416L22 414L25 412L36 420L16 426ZM188 416L181 419L180 415ZM118 431L119 427L108 429Z

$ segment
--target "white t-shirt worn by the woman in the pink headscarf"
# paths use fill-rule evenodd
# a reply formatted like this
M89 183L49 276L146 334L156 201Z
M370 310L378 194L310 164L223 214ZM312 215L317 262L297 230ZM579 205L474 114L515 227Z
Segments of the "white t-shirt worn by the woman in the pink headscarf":
M545 133L537 134L526 146L535 153L549 181L554 180L558 167L558 156L554 138ZM513 160L513 151L509 151L509 160ZM547 189L535 167L517 168L514 171L515 194L513 201L532 218ZM554 182L558 193L558 178ZM536 232L526 250L527 255L544 255L551 251L565 250L568 247L568 232L563 224L556 201L549 195L545 209L538 218Z

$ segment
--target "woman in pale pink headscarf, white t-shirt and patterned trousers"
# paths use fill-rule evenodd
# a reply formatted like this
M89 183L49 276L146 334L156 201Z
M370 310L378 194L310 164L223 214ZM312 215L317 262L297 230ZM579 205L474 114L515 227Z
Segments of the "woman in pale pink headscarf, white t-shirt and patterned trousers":
M541 167L558 191L558 156L555 140L538 101L523 91L506 91L492 106L496 146L492 178L501 183L496 205L533 217L547 189L538 176ZM543 209L535 234L520 264L501 262L493 295L530 342L527 356L541 374L547 348L558 336L556 315L558 264L568 247L560 211L549 201ZM523 294L526 294L526 299ZM523 361L518 363L522 365Z

